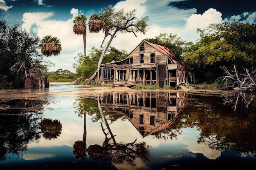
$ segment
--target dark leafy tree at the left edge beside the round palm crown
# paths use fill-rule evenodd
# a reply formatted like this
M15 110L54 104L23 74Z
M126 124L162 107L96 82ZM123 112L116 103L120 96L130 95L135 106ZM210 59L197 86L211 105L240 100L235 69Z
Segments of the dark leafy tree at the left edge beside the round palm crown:
M0 35L0 88L23 88L23 68L47 69L40 53L40 38L34 30L27 32L18 24L8 26L0 21Z

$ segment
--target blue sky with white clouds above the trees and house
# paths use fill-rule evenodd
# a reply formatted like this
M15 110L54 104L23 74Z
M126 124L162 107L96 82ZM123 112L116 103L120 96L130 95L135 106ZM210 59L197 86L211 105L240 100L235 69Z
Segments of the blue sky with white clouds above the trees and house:
M82 35L75 35L72 29L76 15L87 15L103 11L108 5L117 10L137 10L137 16L149 16L149 29L145 35L117 34L111 46L130 53L144 38L154 38L160 33L177 34L187 42L196 42L198 28L211 23L256 22L256 0L0 0L0 18L7 23L22 23L29 29L38 26L38 36L58 37L62 44L59 56L49 58L56 64L49 71L59 68L75 72L74 56L83 52ZM103 33L87 35L87 51L93 46L99 48Z

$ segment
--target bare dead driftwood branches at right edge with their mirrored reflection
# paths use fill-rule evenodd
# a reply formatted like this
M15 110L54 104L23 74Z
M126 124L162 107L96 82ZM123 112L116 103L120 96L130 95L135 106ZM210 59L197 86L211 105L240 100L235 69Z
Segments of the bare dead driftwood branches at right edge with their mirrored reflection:
M232 75L225 66L221 66L221 68L227 74L224 77L224 79L226 79L226 82L228 79L233 82L232 84L234 90L232 93L233 95L223 96L224 105L233 104L234 111L236 111L237 108L248 109L255 100L255 94L250 92L255 91L256 88L255 78L253 78L256 77L256 71L249 73L248 69L244 68L244 71L238 74L236 66L234 65L235 73Z

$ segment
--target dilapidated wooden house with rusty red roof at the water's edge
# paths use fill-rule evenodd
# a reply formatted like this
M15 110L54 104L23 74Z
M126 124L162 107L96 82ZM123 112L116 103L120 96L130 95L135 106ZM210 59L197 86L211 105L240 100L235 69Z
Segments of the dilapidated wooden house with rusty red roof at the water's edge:
M97 78L101 83L159 87L195 82L192 69L177 61L170 49L146 40L124 60L101 64Z

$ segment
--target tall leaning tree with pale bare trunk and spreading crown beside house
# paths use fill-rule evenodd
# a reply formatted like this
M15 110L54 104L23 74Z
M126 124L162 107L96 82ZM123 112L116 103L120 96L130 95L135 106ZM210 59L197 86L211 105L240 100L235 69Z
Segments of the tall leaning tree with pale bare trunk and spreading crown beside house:
M129 12L124 12L124 9L120 11L115 11L114 7L108 6L103 13L94 14L90 17L89 20L89 31L91 33L99 33L103 30L105 33L103 42L106 40L108 36L110 36L105 49L101 53L101 57L99 58L99 62L97 65L97 70L92 74L89 79L85 80L86 84L90 84L92 79L94 79L99 73L99 68L102 63L103 57L106 54L110 43L113 38L116 36L117 32L121 33L133 33L135 37L137 37L136 33L145 34L146 29L148 27L148 16L143 18L137 18L135 15L136 10L132 10ZM103 44L102 42L102 44Z

